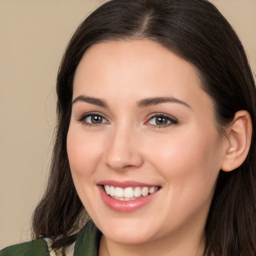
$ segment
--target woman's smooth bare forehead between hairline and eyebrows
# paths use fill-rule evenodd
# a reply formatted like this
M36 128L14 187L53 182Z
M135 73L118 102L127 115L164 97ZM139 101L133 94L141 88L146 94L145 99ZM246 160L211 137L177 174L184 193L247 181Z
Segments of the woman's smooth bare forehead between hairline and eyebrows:
M173 96L191 105L198 98L209 100L200 83L192 64L157 42L100 42L87 49L76 69L73 98L80 93L134 100Z

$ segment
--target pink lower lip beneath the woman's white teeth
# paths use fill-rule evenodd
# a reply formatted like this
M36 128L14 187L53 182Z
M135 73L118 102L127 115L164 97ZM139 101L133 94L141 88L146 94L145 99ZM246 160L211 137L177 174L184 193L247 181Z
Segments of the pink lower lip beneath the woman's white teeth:
M98 188L99 188L101 198L103 202L106 204L106 206L108 206L110 209L114 211L119 211L119 212L130 212L143 207L144 205L149 203L158 192L157 190L152 194L149 194L144 197L139 197L138 199L121 201L121 200L113 199L108 194L106 194L104 188L101 185L98 185Z

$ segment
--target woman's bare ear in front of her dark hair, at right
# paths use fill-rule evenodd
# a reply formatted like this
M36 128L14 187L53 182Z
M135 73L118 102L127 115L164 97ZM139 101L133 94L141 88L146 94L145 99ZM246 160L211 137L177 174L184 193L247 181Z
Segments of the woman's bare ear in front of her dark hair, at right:
M250 114L246 110L237 111L230 127L227 128L228 143L221 162L223 171L231 171L243 163L249 151L251 133Z

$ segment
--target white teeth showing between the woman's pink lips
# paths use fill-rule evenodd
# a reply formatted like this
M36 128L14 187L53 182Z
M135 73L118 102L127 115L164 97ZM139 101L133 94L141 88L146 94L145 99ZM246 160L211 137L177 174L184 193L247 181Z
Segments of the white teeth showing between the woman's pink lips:
M135 200L141 197L145 197L149 194L156 192L160 187L158 186L135 186L135 187L114 187L111 185L102 185L106 194L116 200L129 201Z

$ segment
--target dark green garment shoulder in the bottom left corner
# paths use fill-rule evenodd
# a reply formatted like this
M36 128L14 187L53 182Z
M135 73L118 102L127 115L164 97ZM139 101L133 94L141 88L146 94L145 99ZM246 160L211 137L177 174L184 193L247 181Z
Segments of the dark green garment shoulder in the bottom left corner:
M0 250L0 256L49 256L46 242L36 239L8 246Z

